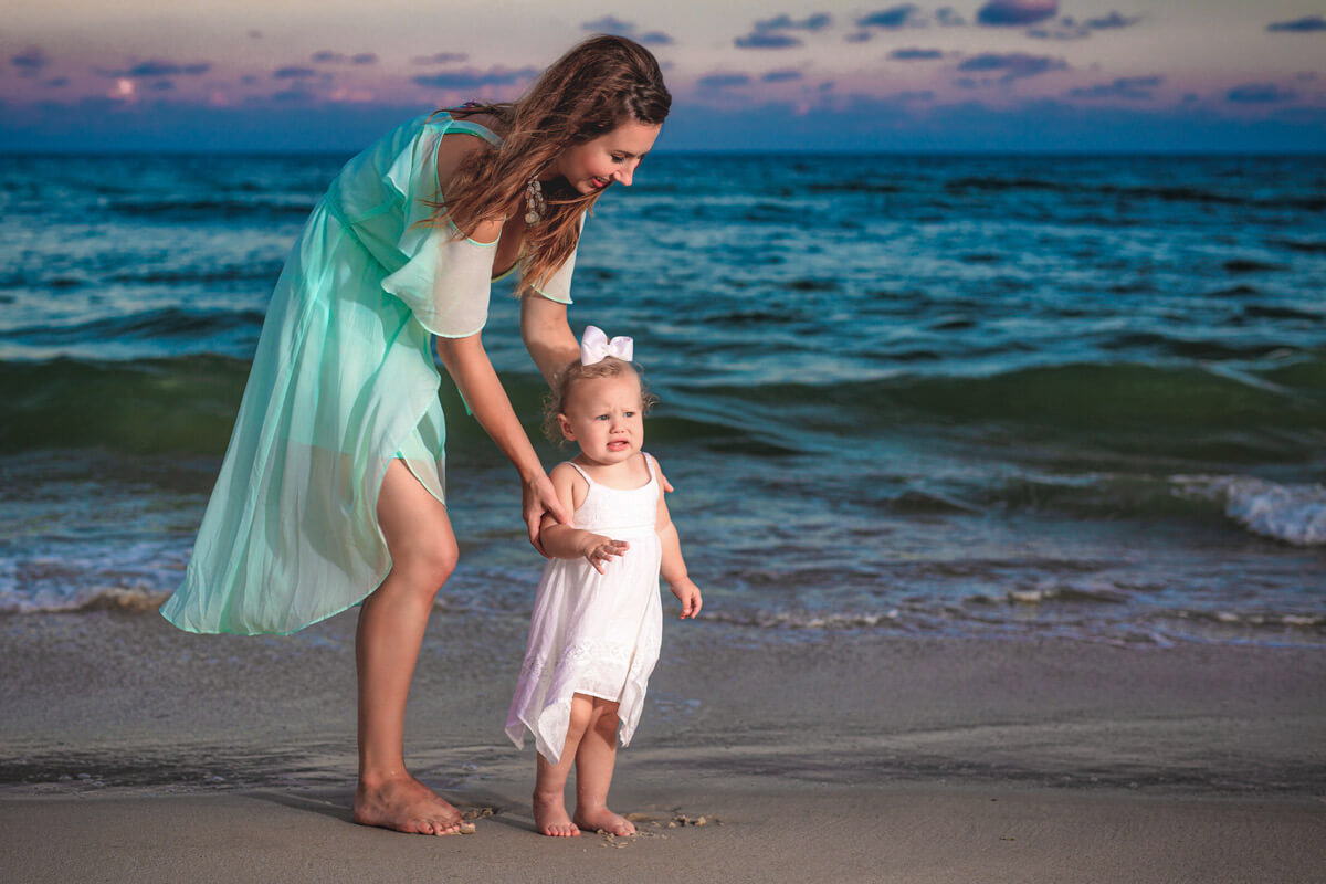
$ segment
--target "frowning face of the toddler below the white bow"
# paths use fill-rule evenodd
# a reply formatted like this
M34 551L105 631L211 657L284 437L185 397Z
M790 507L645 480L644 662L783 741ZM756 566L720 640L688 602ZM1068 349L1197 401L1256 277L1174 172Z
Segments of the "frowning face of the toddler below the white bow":
M640 380L634 374L578 380L557 423L598 464L619 464L644 444Z

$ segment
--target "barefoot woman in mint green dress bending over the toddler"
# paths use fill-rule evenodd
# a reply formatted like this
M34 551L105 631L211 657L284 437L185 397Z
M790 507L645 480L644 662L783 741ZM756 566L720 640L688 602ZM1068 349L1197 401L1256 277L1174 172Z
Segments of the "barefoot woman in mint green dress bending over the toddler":
M518 266L540 371L578 354L566 322L585 213L630 184L667 117L658 62L594 37L518 101L414 119L350 160L314 208L268 307L184 584L195 632L289 634L362 602L355 822L461 831L404 766L406 698L456 565L443 489L438 355L511 459L538 546L558 502L480 341L489 282Z

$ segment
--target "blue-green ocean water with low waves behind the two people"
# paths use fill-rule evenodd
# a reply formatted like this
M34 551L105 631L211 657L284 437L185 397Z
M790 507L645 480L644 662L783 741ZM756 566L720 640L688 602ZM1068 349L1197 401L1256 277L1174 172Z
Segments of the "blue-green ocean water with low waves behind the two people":
M345 159L0 163L0 616L174 590ZM701 628L1322 645L1323 209L1326 158L662 154L586 225L572 321L662 399ZM485 345L533 432L501 294ZM446 387L440 616L522 618L518 489Z

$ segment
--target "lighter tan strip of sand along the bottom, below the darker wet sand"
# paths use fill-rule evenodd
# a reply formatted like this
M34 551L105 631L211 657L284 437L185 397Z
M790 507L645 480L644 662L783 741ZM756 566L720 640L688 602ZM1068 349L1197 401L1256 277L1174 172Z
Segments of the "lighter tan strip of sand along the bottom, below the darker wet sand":
M629 803L631 790L625 790ZM349 793L0 801L11 881L1319 881L1326 814L1305 801L770 782L651 790L721 824L630 839L536 835L528 808L475 835L347 822ZM644 802L640 798L640 802Z

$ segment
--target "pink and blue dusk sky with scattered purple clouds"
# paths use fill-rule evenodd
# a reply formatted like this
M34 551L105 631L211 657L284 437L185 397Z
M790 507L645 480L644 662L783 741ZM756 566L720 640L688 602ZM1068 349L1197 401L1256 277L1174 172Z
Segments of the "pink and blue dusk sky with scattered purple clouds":
M644 42L658 150L1326 152L1326 0L7 0L0 150L354 151Z

